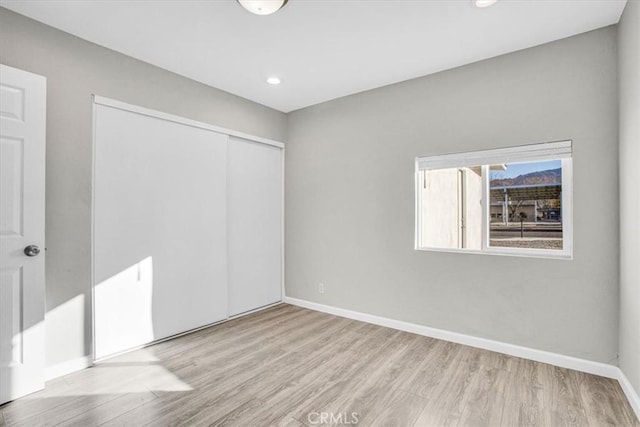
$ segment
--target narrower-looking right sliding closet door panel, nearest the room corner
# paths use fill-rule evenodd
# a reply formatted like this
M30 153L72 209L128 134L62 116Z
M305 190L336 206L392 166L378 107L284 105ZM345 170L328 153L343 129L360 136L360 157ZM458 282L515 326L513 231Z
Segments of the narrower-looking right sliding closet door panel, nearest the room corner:
M229 316L282 299L282 149L230 137Z

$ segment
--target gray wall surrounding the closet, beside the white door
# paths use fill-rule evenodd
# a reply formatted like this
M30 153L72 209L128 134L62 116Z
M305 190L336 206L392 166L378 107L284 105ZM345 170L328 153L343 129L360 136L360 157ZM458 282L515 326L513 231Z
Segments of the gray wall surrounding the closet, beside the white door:
M92 94L284 141L283 113L0 8L0 62L47 78L47 365L89 354ZM224 66L224 64L221 64Z

